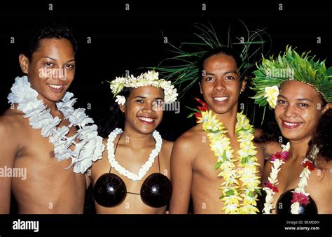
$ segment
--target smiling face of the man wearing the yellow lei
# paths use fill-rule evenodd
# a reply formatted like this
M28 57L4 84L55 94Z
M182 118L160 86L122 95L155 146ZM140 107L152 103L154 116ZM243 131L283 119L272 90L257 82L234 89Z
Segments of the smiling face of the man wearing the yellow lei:
M233 57L219 54L207 58L203 64L205 76L201 80L201 93L214 113L237 111L240 91L245 82L240 82L240 73Z

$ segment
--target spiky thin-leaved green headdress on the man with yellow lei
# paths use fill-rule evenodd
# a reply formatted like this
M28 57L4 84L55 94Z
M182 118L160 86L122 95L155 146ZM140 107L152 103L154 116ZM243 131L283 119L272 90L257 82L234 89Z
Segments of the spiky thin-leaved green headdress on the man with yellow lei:
M214 27L212 27L212 24L209 24L209 26L205 24L194 24L196 29L194 36L198 41L181 43L179 48L169 43L171 47L169 51L174 54L174 57L162 60L159 66L153 69L162 74L166 80L173 80L174 85L179 87L180 98L200 80L200 59L206 52L214 48L234 48L240 46L240 48L242 48L242 50L239 50L240 57L243 63L239 66L239 70L245 73L255 65L257 60L256 56L261 55L263 52L265 43L263 38L268 38L270 41L270 36L265 29L252 31L249 30L242 21L240 22L244 26L246 35L245 37L235 37L234 43L234 37L231 37L230 34L230 27L228 28L227 42L222 43ZM163 66L166 62L168 65L172 66Z

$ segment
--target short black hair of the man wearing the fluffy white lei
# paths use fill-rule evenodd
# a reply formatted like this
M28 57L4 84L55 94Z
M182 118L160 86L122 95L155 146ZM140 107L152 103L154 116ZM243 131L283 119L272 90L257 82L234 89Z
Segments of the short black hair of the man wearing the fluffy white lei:
M50 38L65 38L73 45L74 52L77 51L77 41L70 27L62 23L46 22L34 27L30 32L25 56L31 60L32 54L39 49L41 40Z

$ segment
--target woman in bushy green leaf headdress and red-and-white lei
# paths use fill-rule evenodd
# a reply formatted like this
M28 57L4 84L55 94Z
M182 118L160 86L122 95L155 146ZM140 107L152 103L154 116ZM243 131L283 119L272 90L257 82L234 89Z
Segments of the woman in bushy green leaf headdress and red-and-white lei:
M275 109L282 135L289 139L265 165L263 213L332 213L332 163L331 157L321 157L328 154L324 137L308 149L319 118L332 108L332 68L287 47L279 57L263 59L254 74L255 103Z

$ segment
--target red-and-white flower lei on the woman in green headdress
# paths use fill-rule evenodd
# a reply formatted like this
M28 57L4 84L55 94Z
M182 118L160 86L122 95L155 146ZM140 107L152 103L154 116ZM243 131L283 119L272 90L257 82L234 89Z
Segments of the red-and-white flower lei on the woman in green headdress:
M271 168L268 181L265 182L265 187L263 190L266 192L266 198L263 208L263 214L271 214L273 197L278 191L277 185L278 182L278 173L281 169L281 166L284 164L286 159L289 157L290 143L282 145L282 152L277 152L275 155L270 157L270 162L273 164ZM304 167L303 171L300 173L300 181L298 182L298 187L293 193L293 199L291 200L291 213L298 214L300 204L307 205L309 203L309 194L305 192L305 187L307 187L307 180L310 177L311 171L314 170L314 164L312 161L305 158L301 165Z

